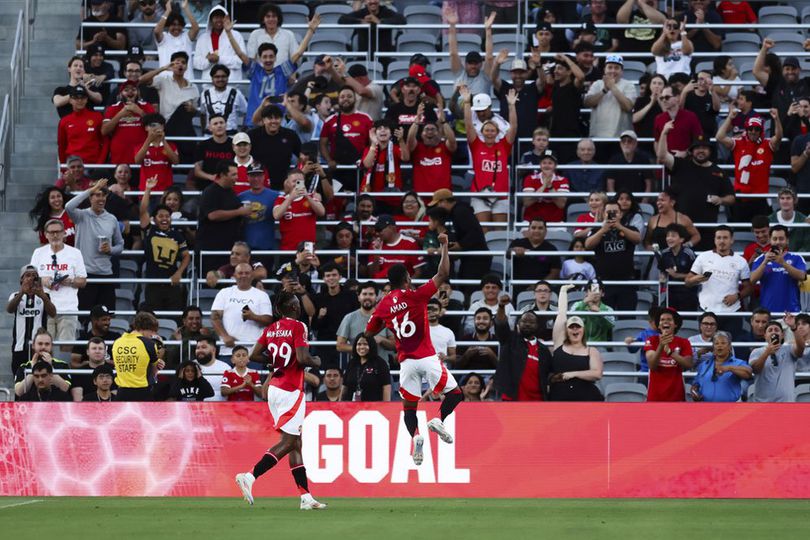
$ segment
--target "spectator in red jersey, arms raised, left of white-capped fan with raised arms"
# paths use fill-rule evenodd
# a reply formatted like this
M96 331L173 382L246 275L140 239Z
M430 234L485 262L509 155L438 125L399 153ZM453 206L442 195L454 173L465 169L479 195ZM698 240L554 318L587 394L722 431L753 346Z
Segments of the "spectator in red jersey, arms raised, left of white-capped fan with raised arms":
M420 103L416 110L417 121L408 128L413 190L418 193L436 192L451 187L450 167L457 147L456 135L445 119L444 109L439 107L436 112L437 121L427 120L424 116L425 106ZM420 135L419 140L417 134Z

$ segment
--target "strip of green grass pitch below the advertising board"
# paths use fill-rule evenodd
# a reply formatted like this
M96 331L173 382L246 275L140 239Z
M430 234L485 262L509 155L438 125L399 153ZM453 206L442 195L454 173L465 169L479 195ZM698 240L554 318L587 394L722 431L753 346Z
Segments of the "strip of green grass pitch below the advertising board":
M28 538L509 540L810 538L807 500L0 497L0 531Z

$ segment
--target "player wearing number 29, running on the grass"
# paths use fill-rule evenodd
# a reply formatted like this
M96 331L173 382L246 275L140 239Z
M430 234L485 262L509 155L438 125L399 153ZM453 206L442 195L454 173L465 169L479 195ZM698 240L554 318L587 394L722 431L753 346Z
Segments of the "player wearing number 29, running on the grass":
M250 359L270 364L273 373L265 382L267 405L281 433L281 440L265 452L252 472L236 475L236 485L245 500L253 504L253 482L290 455L290 472L301 493L301 510L322 510L326 505L309 493L307 471L301 456L301 424L304 421L304 367L320 367L321 359L309 354L307 326L298 320L301 304L298 297L282 291L274 298L276 318L264 329L253 347ZM265 354L267 353L267 354Z

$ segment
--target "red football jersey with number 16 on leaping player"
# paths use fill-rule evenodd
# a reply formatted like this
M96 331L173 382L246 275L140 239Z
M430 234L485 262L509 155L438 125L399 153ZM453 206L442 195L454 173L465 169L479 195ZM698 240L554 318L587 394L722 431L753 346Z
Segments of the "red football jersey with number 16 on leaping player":
M387 327L394 333L397 359L427 358L436 355L430 340L430 324L427 320L427 303L436 294L436 284L428 280L416 290L395 290L380 300L368 320L366 331L376 334Z

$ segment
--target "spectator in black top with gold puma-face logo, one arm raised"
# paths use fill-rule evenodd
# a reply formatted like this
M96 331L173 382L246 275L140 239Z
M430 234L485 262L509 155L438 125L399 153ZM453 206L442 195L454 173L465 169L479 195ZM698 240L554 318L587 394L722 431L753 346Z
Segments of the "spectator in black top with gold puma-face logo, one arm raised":
M144 231L146 273L150 279L169 279L170 283L147 283L145 299L153 311L177 311L185 305L185 287L180 280L191 262L183 233L172 227L172 212L157 205L149 213L149 196L157 178L146 180L146 190L140 203L140 225Z

